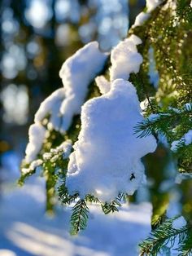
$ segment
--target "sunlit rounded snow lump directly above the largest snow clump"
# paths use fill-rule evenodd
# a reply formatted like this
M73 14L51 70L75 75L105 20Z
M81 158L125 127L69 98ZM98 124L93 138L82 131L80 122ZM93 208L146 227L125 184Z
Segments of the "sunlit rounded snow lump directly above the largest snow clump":
M137 52L137 44L141 42L140 38L132 35L111 51L111 81L117 78L127 80L130 73L138 73L140 64L142 64L142 55Z

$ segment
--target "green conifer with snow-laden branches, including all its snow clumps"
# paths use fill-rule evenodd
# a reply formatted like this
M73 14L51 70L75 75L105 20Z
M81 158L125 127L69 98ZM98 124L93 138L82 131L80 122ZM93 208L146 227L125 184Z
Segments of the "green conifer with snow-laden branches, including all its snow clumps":
M58 198L73 203L72 234L85 229L90 203L109 214L129 201L142 183L141 158L151 152L154 159L157 144L177 166L177 183L190 181L191 29L189 1L147 0L110 55L90 42L63 64L63 88L41 104L29 128L19 183L40 172L47 211ZM172 255L174 246L178 255L192 255L191 200L184 216L168 215L166 193L151 201L152 232L141 255Z

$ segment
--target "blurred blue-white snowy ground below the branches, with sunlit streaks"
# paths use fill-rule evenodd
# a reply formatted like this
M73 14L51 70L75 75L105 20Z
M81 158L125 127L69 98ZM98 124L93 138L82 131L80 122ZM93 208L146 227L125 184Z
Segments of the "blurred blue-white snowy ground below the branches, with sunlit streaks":
M1 256L134 256L137 243L150 232L151 205L124 205L117 214L104 215L91 207L85 232L68 234L70 209L58 209L55 218L44 214L42 179L28 180L24 188L4 183L0 197Z

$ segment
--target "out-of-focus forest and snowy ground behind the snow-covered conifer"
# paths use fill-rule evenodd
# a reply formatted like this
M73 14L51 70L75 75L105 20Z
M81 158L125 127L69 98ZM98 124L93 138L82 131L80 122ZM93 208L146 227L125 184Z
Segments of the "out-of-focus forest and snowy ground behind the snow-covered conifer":
M161 146L155 160L146 159L156 177L137 192L134 200L141 204L110 217L93 208L88 228L76 238L68 235L68 210L45 216L42 179L16 185L28 126L41 101L62 86L63 61L93 40L110 51L144 6L144 0L0 1L0 256L138 255L138 241L151 230L151 204L143 201L152 198L159 214L171 198L172 212L181 210L180 188L173 185L177 170ZM188 197L184 206L191 211Z

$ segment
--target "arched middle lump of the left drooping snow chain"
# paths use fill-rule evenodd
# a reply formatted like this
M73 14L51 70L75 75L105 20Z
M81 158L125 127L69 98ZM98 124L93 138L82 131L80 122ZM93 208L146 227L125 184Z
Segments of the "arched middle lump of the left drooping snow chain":
M35 123L40 123L45 117L50 115L49 126L55 130L59 130L61 117L59 114L59 108L65 97L64 88L55 90L49 97L47 97L40 105L40 108L35 114Z

